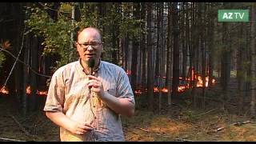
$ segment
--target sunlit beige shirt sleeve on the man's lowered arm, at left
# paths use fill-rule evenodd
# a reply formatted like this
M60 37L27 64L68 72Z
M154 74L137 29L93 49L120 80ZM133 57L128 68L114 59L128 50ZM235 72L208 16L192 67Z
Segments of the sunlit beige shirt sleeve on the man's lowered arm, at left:
M57 70L50 81L44 111L62 112L65 98L65 85L60 70Z

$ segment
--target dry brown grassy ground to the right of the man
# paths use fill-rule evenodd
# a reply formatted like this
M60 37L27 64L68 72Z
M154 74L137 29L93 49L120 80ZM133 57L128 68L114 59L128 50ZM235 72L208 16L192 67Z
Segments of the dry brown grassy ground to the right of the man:
M191 112L191 111L190 111ZM186 113L183 111L182 113ZM137 111L134 118L122 118L127 141L255 141L256 124L230 126L231 123L246 121L246 118L219 111L201 115L199 118L170 118L169 115ZM223 130L214 132L220 127Z

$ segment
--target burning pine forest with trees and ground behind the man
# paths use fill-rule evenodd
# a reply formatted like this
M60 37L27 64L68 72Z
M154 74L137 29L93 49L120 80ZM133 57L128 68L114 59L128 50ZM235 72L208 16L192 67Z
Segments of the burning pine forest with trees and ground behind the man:
M136 108L122 118L126 141L256 141L255 9L254 2L1 2L0 141L59 141L43 112L47 90L55 70L78 60L74 42L87 26L102 32L102 60L129 77ZM248 21L221 22L219 10L248 10Z

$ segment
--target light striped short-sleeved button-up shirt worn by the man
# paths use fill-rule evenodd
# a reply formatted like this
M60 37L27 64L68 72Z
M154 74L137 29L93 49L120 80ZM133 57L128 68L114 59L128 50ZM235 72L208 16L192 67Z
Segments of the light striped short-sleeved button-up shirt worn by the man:
M102 81L105 93L128 98L135 104L129 78L121 67L100 61L94 76ZM77 122L86 122L94 130L83 135L71 134L60 127L61 141L124 141L120 114L116 114L86 87L89 80L79 61L55 71L51 78L44 111L58 111Z

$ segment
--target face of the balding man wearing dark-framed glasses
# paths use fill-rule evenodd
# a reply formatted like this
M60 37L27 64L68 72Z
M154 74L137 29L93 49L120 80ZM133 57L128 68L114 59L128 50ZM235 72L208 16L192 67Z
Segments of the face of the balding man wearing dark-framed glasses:
M102 41L97 30L85 29L78 35L76 42L78 53L83 62L89 62L94 58L98 62L102 54Z

